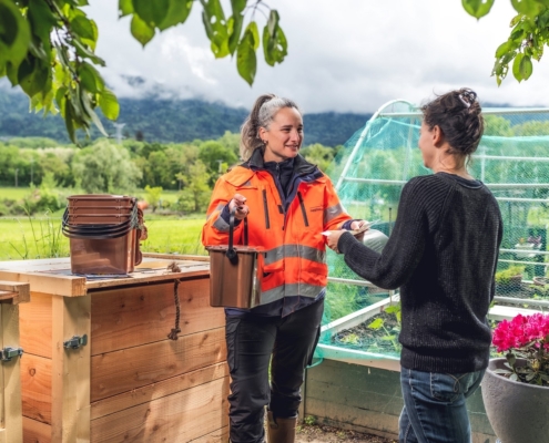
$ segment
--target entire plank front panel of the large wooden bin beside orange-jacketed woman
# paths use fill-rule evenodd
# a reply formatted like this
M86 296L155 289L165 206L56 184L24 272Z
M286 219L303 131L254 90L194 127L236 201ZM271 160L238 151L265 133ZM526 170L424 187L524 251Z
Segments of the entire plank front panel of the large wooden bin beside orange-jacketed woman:
M207 278L93 292L91 441L222 442L228 373L223 309Z

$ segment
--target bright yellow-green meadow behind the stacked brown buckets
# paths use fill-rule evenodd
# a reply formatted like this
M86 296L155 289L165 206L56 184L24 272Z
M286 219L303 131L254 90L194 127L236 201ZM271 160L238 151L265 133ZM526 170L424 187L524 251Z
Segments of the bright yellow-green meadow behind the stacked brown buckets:
M201 244L204 218L146 218L149 238L142 250L205 255ZM61 234L58 217L0 218L0 260L68 257L69 239Z

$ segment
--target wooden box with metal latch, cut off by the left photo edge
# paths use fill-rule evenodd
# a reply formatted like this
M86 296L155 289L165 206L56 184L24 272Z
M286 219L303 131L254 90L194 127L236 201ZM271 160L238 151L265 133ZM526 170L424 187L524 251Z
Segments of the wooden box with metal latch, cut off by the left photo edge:
M23 441L19 303L29 299L28 284L0 281L0 443Z

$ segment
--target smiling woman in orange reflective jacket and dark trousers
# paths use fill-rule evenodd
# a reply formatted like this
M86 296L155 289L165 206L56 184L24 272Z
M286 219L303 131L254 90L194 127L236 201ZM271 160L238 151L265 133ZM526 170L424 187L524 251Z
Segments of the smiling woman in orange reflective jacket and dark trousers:
M365 223L345 213L329 178L298 154L302 143L297 105L260 96L242 126L245 162L217 181L202 231L205 246L226 245L234 209L235 238L247 217L248 245L266 251L260 306L225 309L234 443L264 441L265 405L268 441L294 442L299 388L318 341L326 293L322 233Z

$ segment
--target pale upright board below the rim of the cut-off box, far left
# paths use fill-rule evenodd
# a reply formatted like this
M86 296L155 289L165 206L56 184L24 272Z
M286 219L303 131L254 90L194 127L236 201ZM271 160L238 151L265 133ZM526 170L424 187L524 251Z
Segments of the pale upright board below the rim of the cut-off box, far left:
M0 305L0 346L2 348L19 348L19 306ZM21 415L21 377L20 357L0 363L0 420L6 429L10 443L23 441L23 423Z

